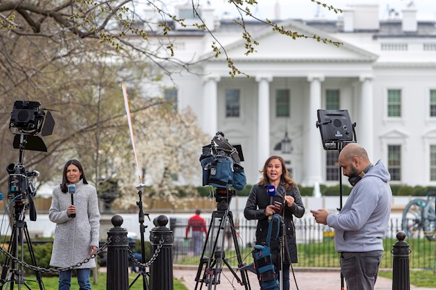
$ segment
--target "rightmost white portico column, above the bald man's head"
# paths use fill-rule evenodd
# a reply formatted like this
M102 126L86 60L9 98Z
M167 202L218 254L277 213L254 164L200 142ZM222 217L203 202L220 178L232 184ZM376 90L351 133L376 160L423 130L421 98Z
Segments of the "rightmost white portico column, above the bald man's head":
M358 100L359 123L356 124L358 144L365 148L370 160L374 154L374 96L372 92L372 77L361 76L361 96ZM374 160L376 162L376 160Z

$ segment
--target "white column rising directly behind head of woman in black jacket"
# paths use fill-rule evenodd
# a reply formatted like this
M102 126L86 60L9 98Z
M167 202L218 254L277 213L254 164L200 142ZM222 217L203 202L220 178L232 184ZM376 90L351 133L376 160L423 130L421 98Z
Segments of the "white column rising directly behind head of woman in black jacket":
M270 155L269 148L269 82L271 76L257 76L257 169L260 170Z

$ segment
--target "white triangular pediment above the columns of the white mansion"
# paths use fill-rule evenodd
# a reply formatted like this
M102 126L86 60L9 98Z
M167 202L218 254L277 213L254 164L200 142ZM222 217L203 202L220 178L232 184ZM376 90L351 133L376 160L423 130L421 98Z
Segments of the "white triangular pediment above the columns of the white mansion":
M325 32L311 28L303 23L288 20L279 24L286 30L295 31L309 38L297 38L281 35L279 32L273 31L271 27L262 28L257 32L252 33L252 38L259 42L258 46L254 46L257 52L245 55L246 48L244 39L226 45L226 52L233 60L238 61L357 61L357 62L373 62L377 59L377 55L371 52L362 50L349 43L343 43L339 47L331 43L323 43L311 38L313 35L318 35L321 39L331 39L339 41ZM215 55L208 54L205 57ZM211 59L213 60L213 59ZM225 61L225 57L221 55L218 59Z

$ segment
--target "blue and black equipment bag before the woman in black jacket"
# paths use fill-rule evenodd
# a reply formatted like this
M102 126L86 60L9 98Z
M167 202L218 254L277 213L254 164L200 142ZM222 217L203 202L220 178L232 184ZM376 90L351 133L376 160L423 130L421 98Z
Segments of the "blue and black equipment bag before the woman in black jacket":
M268 235L266 236L266 245L262 246L260 244L255 245L255 249L253 252L253 260L254 262L248 264L239 269L243 270L247 268L254 267L257 278L259 278L259 284L261 290L278 290L279 282L278 279L275 279L275 271L273 264L273 257L271 255L270 242L271 242L271 231L273 230L273 224L277 221L277 235L275 236L275 240L278 240L280 234L280 215L277 213L272 216L271 220L269 220L269 228Z

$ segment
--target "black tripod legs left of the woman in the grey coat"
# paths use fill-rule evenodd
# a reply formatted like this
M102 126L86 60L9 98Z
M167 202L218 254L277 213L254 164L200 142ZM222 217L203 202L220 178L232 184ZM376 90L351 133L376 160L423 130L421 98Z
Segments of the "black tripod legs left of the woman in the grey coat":
M8 253L14 258L10 258L6 255L6 260L2 265L1 278L0 278L0 289L6 284L6 289L10 285L9 289L14 289L14 284L18 285L18 289L21 289L21 285L30 289L26 281L24 280L24 266L21 264L21 269L19 269L19 263L17 262L19 251L21 250L21 262L24 260L24 238L26 238L26 244L28 247L28 252L30 253L30 259L32 260L33 266L37 266L35 259L35 253L33 252L32 242L30 242L30 235L27 229L27 224L24 221L24 211L26 210L26 203L15 202L14 205L14 225L12 227L12 234L10 235ZM24 235L24 236L23 236ZM9 275L8 275L9 271ZM8 275L8 278L6 276ZM35 270L35 276L39 284L39 289L45 289L42 282L41 273Z

